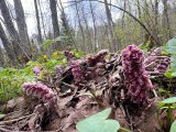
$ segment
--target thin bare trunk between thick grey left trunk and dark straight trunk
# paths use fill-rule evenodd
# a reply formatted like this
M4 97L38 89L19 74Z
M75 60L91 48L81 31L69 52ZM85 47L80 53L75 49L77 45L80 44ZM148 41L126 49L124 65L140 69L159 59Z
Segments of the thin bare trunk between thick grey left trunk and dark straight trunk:
M38 43L43 43L42 38L42 32L41 32L41 22L40 22L40 14L38 14L38 9L37 9L37 1L34 0L34 6L35 6L35 15L36 15L36 23L37 23L37 33L38 33Z

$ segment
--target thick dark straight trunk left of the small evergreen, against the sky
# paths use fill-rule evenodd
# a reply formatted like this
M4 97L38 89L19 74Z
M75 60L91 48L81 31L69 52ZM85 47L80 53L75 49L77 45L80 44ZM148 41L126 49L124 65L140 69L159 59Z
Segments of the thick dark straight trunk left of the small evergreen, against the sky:
M59 26L58 26L58 19L57 19L56 0L50 0L50 8L52 12L54 37L57 37L59 36Z

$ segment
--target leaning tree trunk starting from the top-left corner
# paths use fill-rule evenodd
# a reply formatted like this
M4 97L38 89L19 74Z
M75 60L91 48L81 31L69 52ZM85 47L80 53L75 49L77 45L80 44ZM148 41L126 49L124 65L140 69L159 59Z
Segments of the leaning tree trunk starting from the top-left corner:
M0 9L1 9L3 20L4 20L6 28L9 31L9 33L12 36L12 40L14 42L13 43L13 48L14 48L14 52L18 56L18 59L21 61L21 63L23 62L23 58L24 59L30 59L30 56L28 56L28 54L25 53L25 51L22 47L20 36L19 36L14 25L13 25L9 9L8 9L4 0L1 0Z

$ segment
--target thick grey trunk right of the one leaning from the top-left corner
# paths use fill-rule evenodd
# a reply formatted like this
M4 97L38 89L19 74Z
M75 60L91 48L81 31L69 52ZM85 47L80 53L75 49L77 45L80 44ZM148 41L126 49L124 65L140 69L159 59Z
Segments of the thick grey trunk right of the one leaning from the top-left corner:
M26 28L25 18L24 18L24 10L23 10L21 0L13 0L13 2L14 2L16 25L19 29L21 43L22 43L22 46L24 47L25 53L29 56L31 56L31 45L30 45L30 38L29 38L28 28Z

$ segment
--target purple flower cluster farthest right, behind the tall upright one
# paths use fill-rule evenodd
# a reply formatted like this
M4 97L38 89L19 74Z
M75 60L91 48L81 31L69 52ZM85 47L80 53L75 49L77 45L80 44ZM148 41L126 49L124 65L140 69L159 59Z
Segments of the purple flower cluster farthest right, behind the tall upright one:
M167 67L168 67L168 65L169 65L169 58L166 57L166 58L161 61L161 63L157 65L155 72L165 73Z

